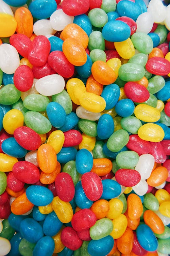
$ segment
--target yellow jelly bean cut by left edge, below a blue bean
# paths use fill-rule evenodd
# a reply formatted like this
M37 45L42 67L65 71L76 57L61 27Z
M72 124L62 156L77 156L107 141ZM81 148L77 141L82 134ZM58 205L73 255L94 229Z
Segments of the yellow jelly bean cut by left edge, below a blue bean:
M16 162L18 162L16 157L0 153L0 172L11 172Z

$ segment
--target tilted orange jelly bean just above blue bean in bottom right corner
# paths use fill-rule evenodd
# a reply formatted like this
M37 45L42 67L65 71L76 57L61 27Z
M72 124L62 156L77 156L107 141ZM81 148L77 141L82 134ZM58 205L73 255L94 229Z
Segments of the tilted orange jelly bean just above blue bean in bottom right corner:
M143 214L145 223L152 229L156 234L162 234L165 230L164 223L159 216L151 210L146 210Z

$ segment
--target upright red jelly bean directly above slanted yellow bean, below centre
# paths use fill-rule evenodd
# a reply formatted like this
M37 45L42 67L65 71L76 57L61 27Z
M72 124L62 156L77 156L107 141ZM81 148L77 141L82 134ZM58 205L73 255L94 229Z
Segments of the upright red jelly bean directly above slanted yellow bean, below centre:
M55 179L55 189L61 200L65 202L71 201L75 194L75 188L70 174L66 172L58 173Z

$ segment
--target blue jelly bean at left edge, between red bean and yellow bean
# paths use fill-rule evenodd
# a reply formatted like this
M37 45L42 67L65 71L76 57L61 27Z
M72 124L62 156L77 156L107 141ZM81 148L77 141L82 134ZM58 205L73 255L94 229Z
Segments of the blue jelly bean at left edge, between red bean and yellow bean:
M27 150L21 147L13 137L4 140L2 142L1 148L5 154L16 158L22 158L27 154Z

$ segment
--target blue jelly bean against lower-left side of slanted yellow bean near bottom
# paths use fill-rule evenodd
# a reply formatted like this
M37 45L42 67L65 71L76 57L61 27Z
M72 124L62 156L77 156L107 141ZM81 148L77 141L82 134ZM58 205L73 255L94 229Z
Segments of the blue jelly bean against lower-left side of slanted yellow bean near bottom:
M51 212L46 215L44 224L43 224L43 231L46 236L54 236L63 226L63 223L58 219L55 212Z

